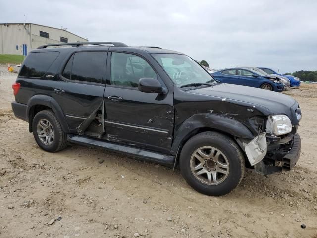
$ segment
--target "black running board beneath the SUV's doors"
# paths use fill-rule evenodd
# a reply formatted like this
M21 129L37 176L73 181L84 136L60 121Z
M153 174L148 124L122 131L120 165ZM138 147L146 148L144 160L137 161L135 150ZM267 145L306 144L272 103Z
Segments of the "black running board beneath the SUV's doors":
M133 148L126 145L114 144L111 142L98 140L90 137L85 137L81 135L68 134L67 140L72 143L93 146L97 148L103 148L109 151L123 153L130 156L135 156L144 161L155 162L158 164L166 165L172 167L175 161L175 157L172 155L160 154L148 150L142 150L138 148Z

